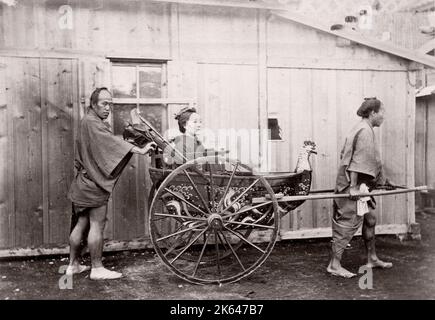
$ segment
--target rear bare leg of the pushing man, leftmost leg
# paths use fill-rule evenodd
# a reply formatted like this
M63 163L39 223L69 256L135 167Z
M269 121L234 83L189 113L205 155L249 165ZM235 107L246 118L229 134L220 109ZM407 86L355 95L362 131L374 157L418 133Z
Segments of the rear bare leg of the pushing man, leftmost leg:
M79 257L81 251L81 241L83 234L85 233L89 224L89 217L87 215L80 215L77 224L71 231L69 236L70 243L70 257L69 265L66 270L67 274L81 273L83 271L89 270L87 266L80 265Z

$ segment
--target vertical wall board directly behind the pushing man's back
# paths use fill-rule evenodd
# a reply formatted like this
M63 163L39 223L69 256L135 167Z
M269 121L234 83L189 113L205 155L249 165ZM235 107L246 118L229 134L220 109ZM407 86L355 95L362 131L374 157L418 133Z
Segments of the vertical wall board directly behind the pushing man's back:
M76 60L41 59L45 243L64 243L70 229L71 205L65 195L73 177L77 68Z

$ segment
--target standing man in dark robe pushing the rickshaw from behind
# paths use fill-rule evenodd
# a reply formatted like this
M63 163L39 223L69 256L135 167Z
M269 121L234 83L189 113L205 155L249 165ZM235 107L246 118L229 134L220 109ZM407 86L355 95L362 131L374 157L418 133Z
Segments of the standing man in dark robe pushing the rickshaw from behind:
M91 255L92 280L117 279L121 273L102 264L103 232L107 220L107 202L116 182L133 153L145 155L155 146L143 148L113 135L107 119L113 106L107 88L96 89L90 107L80 123L74 160L75 177L68 193L73 205L68 275L89 270L80 265L81 243L87 236Z

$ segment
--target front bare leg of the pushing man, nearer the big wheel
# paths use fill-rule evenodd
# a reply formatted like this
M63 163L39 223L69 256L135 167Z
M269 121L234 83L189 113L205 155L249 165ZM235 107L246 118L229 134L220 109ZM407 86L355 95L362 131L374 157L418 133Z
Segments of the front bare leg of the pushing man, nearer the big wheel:
M92 208L90 210L88 246L92 261L92 270L90 275L92 280L117 279L122 277L121 273L110 271L103 266L103 236L106 219L107 205L98 208Z

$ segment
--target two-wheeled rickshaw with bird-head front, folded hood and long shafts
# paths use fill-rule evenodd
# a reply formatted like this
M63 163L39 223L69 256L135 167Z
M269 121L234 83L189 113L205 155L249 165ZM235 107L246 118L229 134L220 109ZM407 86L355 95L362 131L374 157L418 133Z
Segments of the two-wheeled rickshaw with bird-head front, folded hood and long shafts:
M311 154L316 145L305 141L295 172L256 173L225 152L210 152L188 161L152 124L126 127L124 139L136 145L153 141L153 165L148 226L150 239L163 264L195 284L241 280L266 261L279 239L281 218L306 200L347 197L333 190L311 190ZM181 165L167 166L164 153L177 154ZM373 191L388 195L426 187Z

